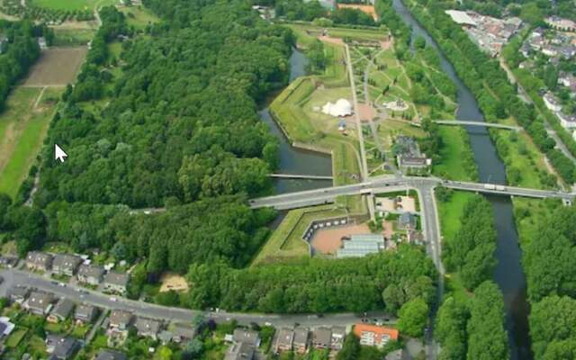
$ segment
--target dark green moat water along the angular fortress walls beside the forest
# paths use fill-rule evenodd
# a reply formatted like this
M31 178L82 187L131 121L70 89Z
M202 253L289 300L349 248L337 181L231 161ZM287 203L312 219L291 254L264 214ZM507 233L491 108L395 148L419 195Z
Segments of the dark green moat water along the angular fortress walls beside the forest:
M308 59L298 49L293 49L290 57L290 82L299 76L306 75ZM299 175L332 175L332 158L329 155L301 148L294 148L290 140L284 136L284 132L276 124L266 107L258 112L262 121L266 122L270 132L275 135L280 143L280 167L279 173ZM275 193L292 193L302 190L329 187L329 180L304 180L304 179L275 179Z

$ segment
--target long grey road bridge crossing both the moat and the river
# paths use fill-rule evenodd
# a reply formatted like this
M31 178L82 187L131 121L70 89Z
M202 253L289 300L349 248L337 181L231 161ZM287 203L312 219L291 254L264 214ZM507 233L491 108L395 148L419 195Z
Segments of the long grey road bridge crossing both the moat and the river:
M368 181L358 184L326 187L296 193L283 193L281 195L253 199L250 200L250 207L253 209L273 207L277 210L289 210L335 202L338 196L382 193L385 191L395 191L399 188L414 188L422 190L439 184L451 189L473 193L490 193L537 199L557 198L563 199L565 202L572 202L576 196L576 193L565 193L555 190L539 190L497 184L456 182L442 180L437 177L388 176L369 178Z

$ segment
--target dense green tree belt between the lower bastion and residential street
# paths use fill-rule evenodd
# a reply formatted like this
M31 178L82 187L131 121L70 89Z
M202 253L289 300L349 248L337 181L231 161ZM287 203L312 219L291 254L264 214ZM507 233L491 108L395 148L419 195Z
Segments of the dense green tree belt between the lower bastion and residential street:
M266 265L233 269L221 262L193 264L188 302L196 309L227 311L364 312L386 308L402 311L404 329L414 336L423 325L410 314L433 301L436 269L419 247L348 259L311 258L299 265Z

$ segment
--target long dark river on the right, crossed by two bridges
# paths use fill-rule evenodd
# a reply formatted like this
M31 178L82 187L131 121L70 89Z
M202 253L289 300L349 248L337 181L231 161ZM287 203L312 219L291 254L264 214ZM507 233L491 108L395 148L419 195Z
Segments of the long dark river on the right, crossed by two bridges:
M458 111L460 120L484 121L482 112L470 89L456 75L455 68L438 48L435 40L410 14L401 0L393 0L393 7L404 23L412 29L412 40L423 37L429 46L436 50L446 74L455 83L458 90ZM506 184L506 170L492 144L488 130L479 127L466 127L476 160L476 166L483 183ZM509 335L510 356L513 360L532 359L530 338L528 335L526 276L521 265L522 253L518 246L518 233L514 222L512 202L508 197L488 196L494 209L494 221L498 233L496 258L498 266L494 272L494 281L504 295L506 313L505 327Z

